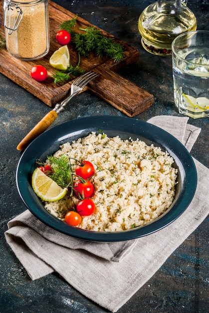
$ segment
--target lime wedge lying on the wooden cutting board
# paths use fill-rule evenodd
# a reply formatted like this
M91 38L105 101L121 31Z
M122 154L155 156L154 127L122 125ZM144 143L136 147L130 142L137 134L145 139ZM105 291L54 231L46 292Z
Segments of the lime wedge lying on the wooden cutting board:
M56 69L67 69L70 66L70 53L67 45L61 46L50 57L49 63Z

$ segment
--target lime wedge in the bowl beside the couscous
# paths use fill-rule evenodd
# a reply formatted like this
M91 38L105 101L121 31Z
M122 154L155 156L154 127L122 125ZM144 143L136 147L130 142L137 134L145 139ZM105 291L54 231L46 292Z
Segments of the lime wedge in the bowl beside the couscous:
M44 201L57 201L67 193L67 188L62 189L53 179L45 175L38 167L32 174L32 188Z

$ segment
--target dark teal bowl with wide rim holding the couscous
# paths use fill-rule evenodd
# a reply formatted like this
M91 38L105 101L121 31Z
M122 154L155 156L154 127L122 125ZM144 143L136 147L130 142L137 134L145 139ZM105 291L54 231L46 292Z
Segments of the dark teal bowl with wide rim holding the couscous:
M175 159L178 168L176 194L172 205L155 221L120 232L98 232L72 227L51 215L43 206L31 187L31 175L35 160L45 160L66 141L77 140L90 132L102 129L108 136L119 135L122 139L139 138L147 144L153 143L167 150ZM172 223L188 207L197 186L195 163L185 146L167 131L136 118L120 116L92 116L78 118L46 130L25 149L16 171L16 183L20 197L28 209L43 223L71 236L91 241L122 241L153 233Z

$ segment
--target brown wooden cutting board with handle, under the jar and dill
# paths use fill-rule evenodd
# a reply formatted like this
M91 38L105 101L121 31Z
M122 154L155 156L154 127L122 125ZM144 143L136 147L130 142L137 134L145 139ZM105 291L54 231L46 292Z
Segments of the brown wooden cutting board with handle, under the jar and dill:
M0 1L0 11L2 12L2 2ZM60 45L55 40L56 32L60 29L60 24L75 17L75 14L61 7L60 5L49 2L49 26L50 26L50 51L41 59L33 61L23 61L10 55L6 49L0 50L0 72L12 81L23 87L37 98L42 100L48 106L53 107L60 103L70 90L73 80L61 85L54 84L53 74L55 69L49 64L49 58ZM77 26L75 29L79 32L79 27L85 28L92 25L88 21L77 17ZM95 26L96 27L96 26ZM97 29L100 29L96 27ZM135 62L139 58L139 52L133 46L115 38L113 35L100 29L103 35L114 38L124 46L125 57L120 62L114 62L107 57L98 57L90 53L87 57L81 56L80 66L85 70L93 70L100 75L88 84L88 89L106 100L120 111L128 116L135 116L145 109L149 108L154 97L146 90L140 88L133 82L125 79L116 72ZM0 14L0 32L4 37L3 16ZM70 62L75 66L78 62L78 54L73 49L73 45L68 45L70 51ZM31 78L30 69L32 66L40 64L46 67L48 76L43 82L38 82ZM86 90L84 88L83 90Z

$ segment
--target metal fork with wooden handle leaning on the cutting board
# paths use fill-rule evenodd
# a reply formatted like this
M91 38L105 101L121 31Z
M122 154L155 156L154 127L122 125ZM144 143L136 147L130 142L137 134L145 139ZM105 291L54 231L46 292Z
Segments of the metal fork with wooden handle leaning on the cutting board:
M63 100L60 104L57 103L55 107L49 111L29 132L28 134L19 142L17 145L17 150L23 150L33 139L35 139L39 134L44 132L57 118L58 114L64 111L65 105L70 101L70 99L81 92L83 88L87 85L89 81L97 77L99 74L88 71L87 73L79 76L71 84L70 96Z

